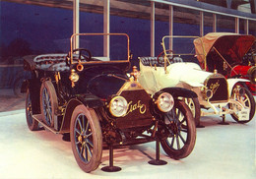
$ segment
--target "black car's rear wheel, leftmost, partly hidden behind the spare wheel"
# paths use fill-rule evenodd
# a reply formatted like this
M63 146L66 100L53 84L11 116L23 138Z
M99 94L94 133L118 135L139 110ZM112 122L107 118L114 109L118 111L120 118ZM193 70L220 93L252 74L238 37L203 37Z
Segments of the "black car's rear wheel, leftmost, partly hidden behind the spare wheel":
M32 98L30 89L27 90L26 96L26 118L27 124L31 131L35 131L38 129L38 122L32 118Z

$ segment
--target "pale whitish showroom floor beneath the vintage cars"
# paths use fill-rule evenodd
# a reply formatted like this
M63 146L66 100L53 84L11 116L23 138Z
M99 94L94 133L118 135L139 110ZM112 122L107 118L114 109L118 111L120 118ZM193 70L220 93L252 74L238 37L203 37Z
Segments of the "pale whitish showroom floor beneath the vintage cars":
M73 156L70 142L48 131L31 132L25 111L0 112L0 178L175 178L175 179L255 179L256 117L248 124L219 125L218 116L202 117L205 128L197 129L193 152L174 160L160 150L163 166L148 164L155 157L155 143L114 149L114 165L122 167L115 173L100 170L108 165L108 150L103 150L96 171L83 172Z

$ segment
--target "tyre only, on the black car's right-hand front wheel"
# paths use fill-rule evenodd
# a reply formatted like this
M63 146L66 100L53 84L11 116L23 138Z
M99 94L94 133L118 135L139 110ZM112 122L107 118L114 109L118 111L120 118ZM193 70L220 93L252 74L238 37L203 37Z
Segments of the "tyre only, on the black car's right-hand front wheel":
M170 111L173 112L174 110L177 110L175 113L177 114L178 111L180 111L184 115L184 119L186 121L186 126L180 125L182 130L187 131L187 138L185 140L185 143L183 143L183 147L181 149L174 149L171 148L170 144L167 142L167 139L173 139L174 135L172 137L165 137L160 140L161 148L166 152L166 154L174 159L180 159L188 156L192 150L195 147L196 143L196 126L195 122L192 116L192 112L187 106L187 104L184 101L176 100L173 109ZM169 114L170 114L169 113ZM166 114L165 114L166 115ZM174 119L174 121L177 120L177 118ZM183 123L182 123L183 124ZM173 132L173 131L172 131ZM180 133L181 130L178 130ZM173 145L172 145L173 147Z

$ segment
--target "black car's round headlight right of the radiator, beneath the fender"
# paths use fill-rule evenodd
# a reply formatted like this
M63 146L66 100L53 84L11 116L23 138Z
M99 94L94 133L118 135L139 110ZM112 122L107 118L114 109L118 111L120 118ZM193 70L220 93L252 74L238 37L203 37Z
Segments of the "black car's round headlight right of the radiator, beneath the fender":
M157 105L161 112L168 112L174 105L174 99L171 94L163 92L158 97Z

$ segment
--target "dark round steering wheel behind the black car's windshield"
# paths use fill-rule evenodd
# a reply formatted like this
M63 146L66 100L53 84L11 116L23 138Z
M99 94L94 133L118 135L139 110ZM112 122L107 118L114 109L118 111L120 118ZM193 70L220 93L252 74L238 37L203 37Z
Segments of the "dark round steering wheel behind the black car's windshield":
M90 62L92 60L91 51L89 51L88 49L86 49L86 48L76 48L76 49L73 50L73 53L76 52L76 51L78 51L79 54L78 54L78 58L77 58L77 56L76 56L76 58L74 58L74 54L73 54L73 60L74 61L80 60L80 61ZM83 52L84 52L84 54L83 54ZM66 63L67 63L68 66L70 66L70 63L71 63L70 57L71 57L71 54L69 52L67 57L66 57Z

